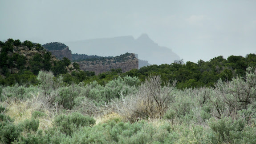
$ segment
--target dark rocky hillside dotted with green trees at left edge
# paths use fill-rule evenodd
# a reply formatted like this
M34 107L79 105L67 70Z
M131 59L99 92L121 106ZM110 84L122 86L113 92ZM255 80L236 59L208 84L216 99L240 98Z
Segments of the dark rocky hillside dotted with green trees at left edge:
M0 84L37 84L35 76L41 70L52 71L55 76L77 72L67 58L58 60L41 44L28 40L0 41Z

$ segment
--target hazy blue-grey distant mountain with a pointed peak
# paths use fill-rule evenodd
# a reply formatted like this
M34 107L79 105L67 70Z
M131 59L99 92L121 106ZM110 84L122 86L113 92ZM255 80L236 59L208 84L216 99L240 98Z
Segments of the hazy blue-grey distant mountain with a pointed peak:
M114 38L101 38L65 42L73 53L118 56L123 53L136 53L140 60L147 60L150 64L171 64L180 57L167 47L161 47L142 34L137 39L133 36L119 36Z

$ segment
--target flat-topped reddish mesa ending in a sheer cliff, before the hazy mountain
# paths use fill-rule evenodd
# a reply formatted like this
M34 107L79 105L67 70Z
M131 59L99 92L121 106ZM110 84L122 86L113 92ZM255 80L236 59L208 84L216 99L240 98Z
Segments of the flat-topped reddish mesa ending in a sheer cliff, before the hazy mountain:
M125 56L122 56L122 60L118 60L117 57L113 57L105 60L84 60L80 62L76 62L79 64L80 69L83 71L93 71L96 75L102 72L108 72L111 69L121 68L122 72L128 72L131 69L138 69L138 59L135 57L133 53L126 53ZM121 57L119 56L119 57Z

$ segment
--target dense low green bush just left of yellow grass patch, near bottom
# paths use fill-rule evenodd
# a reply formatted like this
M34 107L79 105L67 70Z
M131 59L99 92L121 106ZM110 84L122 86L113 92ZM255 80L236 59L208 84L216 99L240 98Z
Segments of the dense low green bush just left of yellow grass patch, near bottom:
M74 112L69 115L61 114L53 122L64 134L71 136L79 127L91 126L95 120L90 116L83 116L81 113Z

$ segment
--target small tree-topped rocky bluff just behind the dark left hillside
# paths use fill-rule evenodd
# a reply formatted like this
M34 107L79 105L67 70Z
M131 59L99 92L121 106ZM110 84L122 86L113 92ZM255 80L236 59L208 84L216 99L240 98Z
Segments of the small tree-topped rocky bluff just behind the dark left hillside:
M42 45L45 49L52 53L52 55L56 56L59 59L63 57L72 60L72 52L69 50L69 47L65 44L53 42Z

